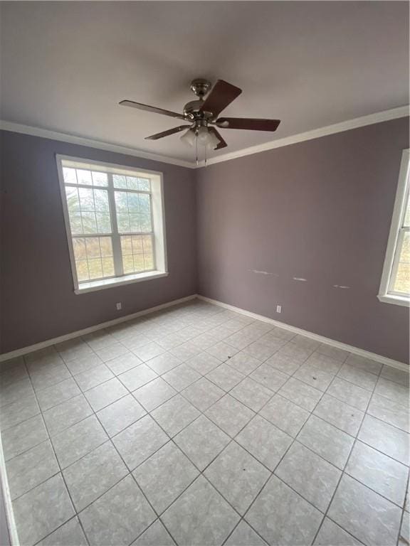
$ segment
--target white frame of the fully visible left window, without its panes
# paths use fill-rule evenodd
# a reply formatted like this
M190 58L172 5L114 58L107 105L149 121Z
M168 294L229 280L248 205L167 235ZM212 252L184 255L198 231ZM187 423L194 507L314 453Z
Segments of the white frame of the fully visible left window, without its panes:
M106 277L104 279L95 279L92 281L78 282L77 269L75 267L75 258L73 250L73 235L70 228L70 218L68 215L68 206L67 199L65 196L65 182L63 176L63 161L70 161L72 163L78 163L80 168L90 168L93 169L93 166L99 166L104 168L105 172L108 173L119 173L119 174L128 174L128 176L140 176L141 178L149 178L151 181L151 203L152 203L152 224L153 224L153 250L154 250L154 267L152 271L146 271L135 274L122 274L117 277ZM75 294L85 294L86 292L107 289L112 287L117 287L123 284L131 284L134 282L142 282L151 279L158 279L160 277L167 277L168 275L168 264L167 264L167 241L165 235L165 211L164 211L164 180L163 174L159 171L148 171L144 168L135 168L124 166L120 164L106 163L105 161L94 161L91 159L65 156L61 154L56 154L56 163L58 171L58 181L60 184L60 193L61 201L63 203L63 214L64 214L64 223L65 223L65 232L68 240L68 250L70 252L70 264L71 264L71 273L73 275L73 285ZM109 176L109 181L112 180L112 177ZM93 186L88 186L93 188ZM109 235L107 233L101 233L95 235L96 237L107 237L110 236L120 237L117 232L117 216L115 213L115 202L114 202L114 188L109 185L108 190L108 199L110 200L110 216L112 222L112 233ZM118 247L118 245L117 245ZM116 255L115 247L113 245L113 259L115 260L117 270L122 271L122 257Z

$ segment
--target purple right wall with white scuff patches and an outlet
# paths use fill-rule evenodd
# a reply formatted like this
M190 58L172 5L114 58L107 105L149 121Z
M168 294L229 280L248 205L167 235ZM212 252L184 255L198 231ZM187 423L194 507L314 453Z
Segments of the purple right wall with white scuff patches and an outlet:
M408 362L409 310L377 299L408 134L396 119L201 168L199 294Z

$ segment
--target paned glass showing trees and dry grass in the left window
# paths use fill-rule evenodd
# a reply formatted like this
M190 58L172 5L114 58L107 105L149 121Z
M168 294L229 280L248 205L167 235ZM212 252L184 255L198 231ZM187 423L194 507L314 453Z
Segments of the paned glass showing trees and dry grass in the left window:
M78 282L152 271L149 178L64 161L63 178Z

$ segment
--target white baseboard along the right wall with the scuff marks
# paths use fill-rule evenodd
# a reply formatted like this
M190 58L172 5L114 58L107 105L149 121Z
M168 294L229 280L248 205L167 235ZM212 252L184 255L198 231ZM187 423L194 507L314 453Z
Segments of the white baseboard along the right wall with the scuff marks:
M307 330L303 330L302 328L296 328L296 326L290 326L290 324L275 321L274 319L269 319L267 316L258 315L256 313L252 313L251 311L246 311L246 309L241 309L240 307L224 304L222 301L218 301L216 299L206 298L205 296L201 296L199 294L197 297L198 299L201 299L203 301L208 301L210 304L219 305L221 307L224 307L225 309L236 311L236 313L251 316L253 319L256 319L258 321L264 321L270 324L274 324L275 326L279 326L280 328L289 330L290 332L300 333L302 336L314 339L315 341L320 341L320 343L326 343L327 345L330 345L332 347L347 350L349 351L349 353L353 353L354 355L363 356L364 358L370 358L371 360L376 360L379 363L386 364L388 366L391 366L392 368L404 370L405 372L409 373L409 366L407 364L399 362L399 360L393 360L392 358L387 358L387 356L370 353L369 350L359 349L358 347L347 345L347 343L341 343L340 341L335 341L334 339L325 338L325 336L319 336L317 333L308 332Z

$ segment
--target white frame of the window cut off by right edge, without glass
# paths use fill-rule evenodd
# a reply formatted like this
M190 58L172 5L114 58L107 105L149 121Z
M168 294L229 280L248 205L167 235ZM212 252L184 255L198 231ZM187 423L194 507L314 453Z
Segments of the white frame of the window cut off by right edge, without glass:
M387 304L410 306L410 297L395 293L391 285L396 277L396 268L399 262L401 240L404 236L404 215L406 214L406 201L410 191L410 149L403 151L401 155L399 183L397 184L396 199L394 201L393 218L387 243L386 257L384 259L382 281L377 298Z

